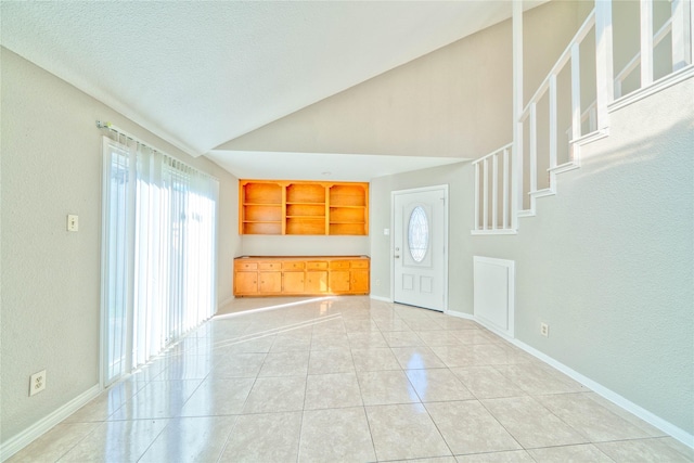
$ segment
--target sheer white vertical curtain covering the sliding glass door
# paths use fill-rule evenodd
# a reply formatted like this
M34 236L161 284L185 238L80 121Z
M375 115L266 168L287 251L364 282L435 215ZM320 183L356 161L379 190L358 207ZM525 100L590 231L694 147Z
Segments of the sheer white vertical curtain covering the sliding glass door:
M166 154L104 138L105 384L213 316L218 190Z

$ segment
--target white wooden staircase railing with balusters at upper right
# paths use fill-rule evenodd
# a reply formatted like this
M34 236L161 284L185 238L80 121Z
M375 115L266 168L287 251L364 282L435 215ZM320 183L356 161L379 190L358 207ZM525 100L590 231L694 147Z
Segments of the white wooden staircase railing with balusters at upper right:
M609 136L611 112L694 76L693 10L692 0L596 1L519 111L515 140L473 163L473 234L515 234L517 218L535 216L558 176L580 167L581 146Z

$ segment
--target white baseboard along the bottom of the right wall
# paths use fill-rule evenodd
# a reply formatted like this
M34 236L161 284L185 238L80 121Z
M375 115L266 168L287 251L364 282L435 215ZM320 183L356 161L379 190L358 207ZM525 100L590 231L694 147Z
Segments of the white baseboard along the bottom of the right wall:
M685 432L684 429L673 425L672 423L663 420L660 416L655 415L654 413L650 412L648 410L633 403L632 401L630 401L629 399L626 399L625 397L620 396L619 394L615 393L612 389L606 388L605 386L603 386L600 383L594 382L593 380L589 378L588 376L583 376L582 374L578 373L575 370L571 370L570 368L566 366L564 363L561 363L556 360L554 360L552 357L542 353L541 351L537 350L534 347L528 346L527 344L518 340L518 339L510 339L509 337L504 336L504 338L506 338L510 343L512 343L513 345L517 346L518 348L525 350L526 352L530 353L531 356L542 360L544 363L555 368L556 370L561 371L562 373L564 373L565 375L569 376L570 378L579 382L580 384L582 384L583 386L588 387L589 389L591 389L593 393L604 397L605 399L609 400L611 402L615 403L618 407L621 407L622 409L627 410L628 412L637 415L638 417L640 417L641 420L645 421L646 423L657 427L658 429L660 429L661 432L672 436L674 439L679 440L680 442L684 443L685 446L693 448L694 449L694 435L689 434L687 432Z

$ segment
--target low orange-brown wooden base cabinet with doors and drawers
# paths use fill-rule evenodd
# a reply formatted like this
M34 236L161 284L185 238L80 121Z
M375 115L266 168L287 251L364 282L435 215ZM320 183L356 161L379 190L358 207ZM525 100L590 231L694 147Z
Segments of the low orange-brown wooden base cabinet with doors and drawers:
M369 294L368 257L240 257L234 296Z

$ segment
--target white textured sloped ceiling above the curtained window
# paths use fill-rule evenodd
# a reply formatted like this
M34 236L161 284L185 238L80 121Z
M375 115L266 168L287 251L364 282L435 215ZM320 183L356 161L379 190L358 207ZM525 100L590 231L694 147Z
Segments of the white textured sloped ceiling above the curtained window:
M0 8L3 47L192 155L511 15L490 0Z

